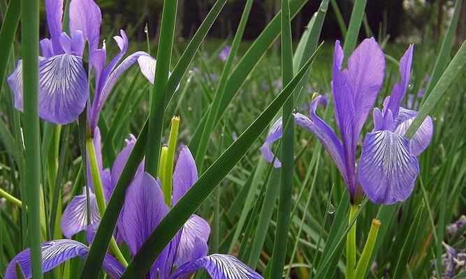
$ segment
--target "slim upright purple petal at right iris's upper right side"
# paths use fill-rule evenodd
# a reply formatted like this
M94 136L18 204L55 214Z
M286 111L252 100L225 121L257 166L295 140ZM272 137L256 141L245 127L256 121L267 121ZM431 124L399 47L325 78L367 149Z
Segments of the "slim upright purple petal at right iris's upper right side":
M411 65L413 60L413 45L409 45L407 51L400 59L400 83L393 86L390 101L388 101L387 109L391 110L393 117L398 116L398 109L401 105L401 100L405 96L408 89L409 77L411 76Z

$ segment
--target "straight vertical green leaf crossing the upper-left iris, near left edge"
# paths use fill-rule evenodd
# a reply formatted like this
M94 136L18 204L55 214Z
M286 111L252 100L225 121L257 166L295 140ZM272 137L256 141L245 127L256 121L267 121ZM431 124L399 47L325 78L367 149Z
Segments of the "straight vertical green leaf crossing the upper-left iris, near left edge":
M24 110L24 188L27 190L27 219L31 247L32 277L42 279L41 149L38 113L39 1L21 0L22 80ZM4 55L4 54L2 54Z

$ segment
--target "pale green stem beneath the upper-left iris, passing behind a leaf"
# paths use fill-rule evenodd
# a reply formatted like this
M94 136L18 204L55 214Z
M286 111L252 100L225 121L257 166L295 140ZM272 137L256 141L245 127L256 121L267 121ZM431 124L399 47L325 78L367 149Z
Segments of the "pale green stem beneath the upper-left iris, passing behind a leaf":
M89 153L89 167L91 168L91 177L92 182L94 183L94 193L96 194L97 207L99 208L99 213L101 213L101 216L103 216L106 206L105 197L103 197L103 187L101 175L99 173L99 167L97 165L96 149L94 149L94 144L92 143L91 137L86 138L86 146L87 152ZM126 259L122 254L122 251L119 250L117 241L115 241L115 238L113 236L112 239L110 239L110 248L112 249L118 261L124 267L128 266L128 262L126 262Z

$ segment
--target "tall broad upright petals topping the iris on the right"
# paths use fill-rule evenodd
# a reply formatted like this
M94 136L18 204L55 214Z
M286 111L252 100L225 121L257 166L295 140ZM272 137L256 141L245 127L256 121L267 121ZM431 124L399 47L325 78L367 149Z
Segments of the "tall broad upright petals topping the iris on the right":
M374 38L365 39L348 59L348 68L341 71L344 58L340 42L335 43L333 60L333 101L340 129L348 174L347 186L356 195L356 146L367 116L374 106L384 81L385 59Z

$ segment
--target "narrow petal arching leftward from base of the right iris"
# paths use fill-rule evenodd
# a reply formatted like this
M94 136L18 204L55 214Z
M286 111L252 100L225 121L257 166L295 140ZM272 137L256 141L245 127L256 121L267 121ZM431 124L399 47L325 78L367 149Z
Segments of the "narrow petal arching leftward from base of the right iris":
M333 130L316 114L316 107L321 101L321 96L315 98L310 105L310 119L303 114L295 114L295 122L310 131L321 141L325 147L328 155L332 158L333 162L340 170L344 181L348 184L348 176L344 165L343 146L338 140L338 137L333 133Z

